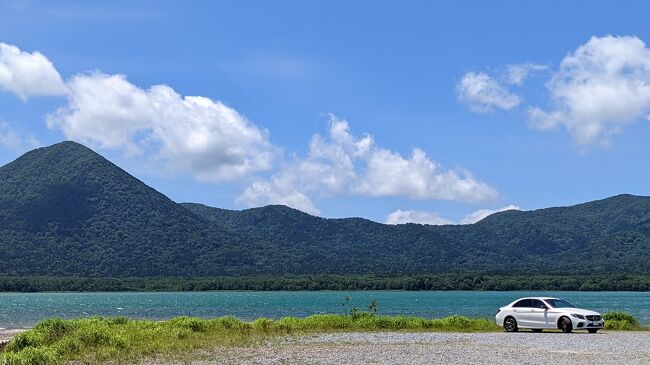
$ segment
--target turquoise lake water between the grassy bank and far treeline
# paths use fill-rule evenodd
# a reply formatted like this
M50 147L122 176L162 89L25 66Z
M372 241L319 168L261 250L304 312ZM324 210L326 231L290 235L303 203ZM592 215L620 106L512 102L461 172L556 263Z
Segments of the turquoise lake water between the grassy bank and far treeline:
M166 319L187 315L241 319L343 313L365 308L373 299L379 313L444 317L460 314L492 317L496 309L523 296L555 296L599 312L624 310L650 324L650 292L491 292L491 291L320 291L320 292L183 292L183 293L3 293L0 328L34 326L48 317L90 315Z

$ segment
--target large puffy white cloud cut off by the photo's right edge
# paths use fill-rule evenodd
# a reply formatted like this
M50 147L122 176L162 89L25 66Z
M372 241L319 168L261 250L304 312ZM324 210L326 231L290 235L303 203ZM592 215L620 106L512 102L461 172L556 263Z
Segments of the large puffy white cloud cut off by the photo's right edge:
M650 115L650 49L637 37L592 37L547 84L548 109L529 109L538 129L564 126L579 144L608 143L623 126Z

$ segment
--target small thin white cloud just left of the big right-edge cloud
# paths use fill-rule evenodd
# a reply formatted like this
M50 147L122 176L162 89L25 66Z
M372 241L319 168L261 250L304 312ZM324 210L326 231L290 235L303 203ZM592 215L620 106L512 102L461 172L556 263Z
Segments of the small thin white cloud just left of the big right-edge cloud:
M456 86L456 91L458 100L479 113L490 112L494 108L512 109L523 101L483 72L466 73Z

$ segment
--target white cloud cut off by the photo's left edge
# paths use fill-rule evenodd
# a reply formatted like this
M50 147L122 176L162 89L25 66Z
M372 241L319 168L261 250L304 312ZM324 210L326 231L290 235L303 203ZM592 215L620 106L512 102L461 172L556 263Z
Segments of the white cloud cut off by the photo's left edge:
M66 92L61 75L45 56L39 52L23 52L6 43L0 43L0 90L23 100Z

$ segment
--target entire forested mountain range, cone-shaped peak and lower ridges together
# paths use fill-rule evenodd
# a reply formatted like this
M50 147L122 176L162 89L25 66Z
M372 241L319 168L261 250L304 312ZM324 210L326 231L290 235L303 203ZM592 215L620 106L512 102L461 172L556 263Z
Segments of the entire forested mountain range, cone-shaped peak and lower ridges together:
M506 211L472 225L177 204L63 142L0 167L0 274L408 275L650 271L650 197Z

